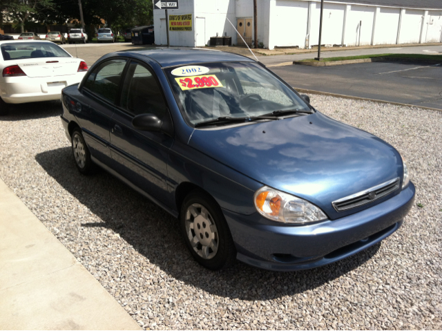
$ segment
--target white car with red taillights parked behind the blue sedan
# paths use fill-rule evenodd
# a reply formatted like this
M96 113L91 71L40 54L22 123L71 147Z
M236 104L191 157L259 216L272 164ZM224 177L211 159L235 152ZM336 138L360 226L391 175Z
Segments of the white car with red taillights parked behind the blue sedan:
M88 65L51 41L0 41L0 115L8 104L60 100L81 82Z

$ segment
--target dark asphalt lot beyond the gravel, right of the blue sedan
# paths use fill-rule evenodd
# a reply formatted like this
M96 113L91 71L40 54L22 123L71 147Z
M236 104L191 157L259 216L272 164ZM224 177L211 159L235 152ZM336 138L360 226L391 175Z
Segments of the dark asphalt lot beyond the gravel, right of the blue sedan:
M295 88L442 110L442 65L372 62L282 66L271 70Z

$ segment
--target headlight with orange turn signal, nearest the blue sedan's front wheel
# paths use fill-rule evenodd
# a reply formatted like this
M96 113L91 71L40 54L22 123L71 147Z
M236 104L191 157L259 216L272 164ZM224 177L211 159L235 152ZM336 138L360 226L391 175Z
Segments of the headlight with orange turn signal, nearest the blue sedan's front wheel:
M269 220L305 224L327 219L324 212L310 202L267 186L258 189L253 198L258 212Z

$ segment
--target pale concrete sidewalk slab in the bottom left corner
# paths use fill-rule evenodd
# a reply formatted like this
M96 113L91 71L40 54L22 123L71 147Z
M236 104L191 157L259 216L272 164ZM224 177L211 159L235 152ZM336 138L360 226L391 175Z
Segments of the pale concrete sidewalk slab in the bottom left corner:
M1 179L0 329L140 330Z

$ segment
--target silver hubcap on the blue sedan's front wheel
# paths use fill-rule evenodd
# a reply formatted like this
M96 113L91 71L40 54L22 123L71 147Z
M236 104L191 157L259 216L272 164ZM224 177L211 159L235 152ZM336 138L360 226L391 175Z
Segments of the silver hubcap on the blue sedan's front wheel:
M193 250L206 260L218 252L218 231L209 211L198 203L186 211L186 234Z

